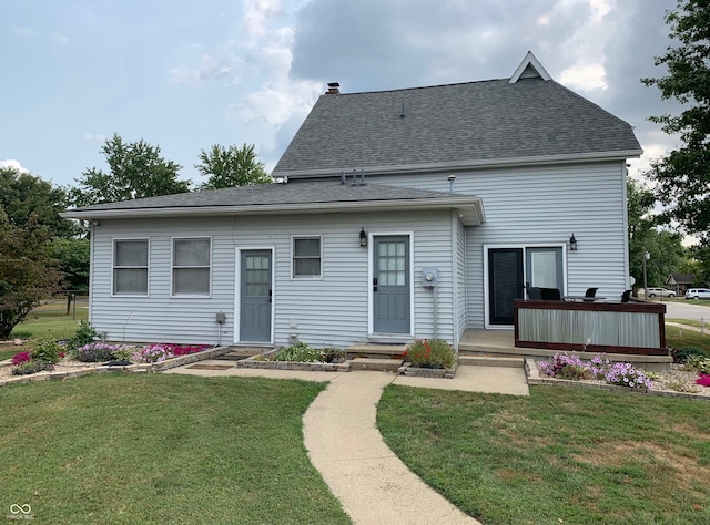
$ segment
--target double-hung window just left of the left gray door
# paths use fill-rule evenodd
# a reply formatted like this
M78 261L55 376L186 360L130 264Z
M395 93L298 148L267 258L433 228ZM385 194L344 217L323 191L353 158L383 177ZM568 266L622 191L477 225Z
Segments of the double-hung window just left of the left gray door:
M212 240L173 239L173 295L209 296Z

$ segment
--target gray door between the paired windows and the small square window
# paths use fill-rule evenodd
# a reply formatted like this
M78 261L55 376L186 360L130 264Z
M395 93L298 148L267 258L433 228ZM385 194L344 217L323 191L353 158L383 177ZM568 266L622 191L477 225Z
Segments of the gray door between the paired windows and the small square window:
M271 250L242 251L240 340L271 341Z

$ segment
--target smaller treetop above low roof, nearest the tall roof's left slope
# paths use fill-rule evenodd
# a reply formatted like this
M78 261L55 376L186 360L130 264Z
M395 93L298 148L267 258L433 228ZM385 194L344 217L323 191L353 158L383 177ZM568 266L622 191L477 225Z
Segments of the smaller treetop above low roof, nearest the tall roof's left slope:
M227 148L215 144L209 151L200 152L200 161L201 164L195 164L195 167L203 176L209 177L200 189L252 186L272 182L264 163L257 161L253 144L244 144L242 147L232 145Z

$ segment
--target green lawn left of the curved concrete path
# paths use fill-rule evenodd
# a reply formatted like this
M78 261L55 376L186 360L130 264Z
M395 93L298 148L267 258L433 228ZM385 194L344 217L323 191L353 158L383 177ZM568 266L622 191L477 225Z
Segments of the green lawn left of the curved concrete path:
M302 415L325 383L106 373L0 389L0 506L41 523L349 523Z

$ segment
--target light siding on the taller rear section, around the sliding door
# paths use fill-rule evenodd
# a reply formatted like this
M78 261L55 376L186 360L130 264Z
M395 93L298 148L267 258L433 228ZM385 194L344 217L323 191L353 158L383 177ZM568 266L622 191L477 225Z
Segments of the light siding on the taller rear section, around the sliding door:
M567 253L567 294L619 299L628 285L626 168L621 161L456 173L456 193L483 198L486 222L466 228L467 327L484 328L484 245L559 246ZM377 184L446 192L447 173L373 176Z

